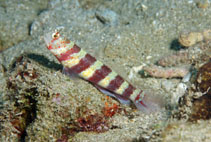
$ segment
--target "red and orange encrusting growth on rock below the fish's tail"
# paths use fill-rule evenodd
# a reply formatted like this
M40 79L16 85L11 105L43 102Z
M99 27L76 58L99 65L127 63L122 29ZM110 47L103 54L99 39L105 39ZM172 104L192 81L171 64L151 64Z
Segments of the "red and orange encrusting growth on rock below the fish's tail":
M110 97L106 96L107 101L102 110L102 114L91 113L92 111L86 107L80 107L76 110L78 118L72 120L67 127L62 128L62 136L57 139L57 142L66 142L70 136L74 136L77 132L97 132L102 133L108 131L109 117L114 116L123 109L119 108L117 104L110 102ZM111 105L112 104L112 105ZM124 110L123 110L124 111Z

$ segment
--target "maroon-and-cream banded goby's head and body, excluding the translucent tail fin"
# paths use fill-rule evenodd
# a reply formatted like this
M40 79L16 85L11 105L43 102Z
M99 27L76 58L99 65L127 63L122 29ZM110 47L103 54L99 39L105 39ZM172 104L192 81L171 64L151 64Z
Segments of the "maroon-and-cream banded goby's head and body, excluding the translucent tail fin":
M56 56L67 72L73 72L81 78L98 86L107 95L122 103L132 101L137 108L146 109L142 90L136 89L115 71L96 60L78 47L74 42L60 36L59 32L45 36L47 48Z

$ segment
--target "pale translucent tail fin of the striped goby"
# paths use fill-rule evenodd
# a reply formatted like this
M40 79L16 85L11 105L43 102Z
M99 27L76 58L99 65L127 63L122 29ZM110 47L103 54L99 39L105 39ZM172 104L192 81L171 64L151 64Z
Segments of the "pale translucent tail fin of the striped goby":
M161 111L164 107L164 99L161 95L155 95L145 91L137 95L133 102L138 110L147 114Z

